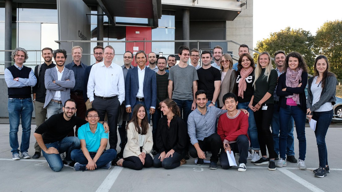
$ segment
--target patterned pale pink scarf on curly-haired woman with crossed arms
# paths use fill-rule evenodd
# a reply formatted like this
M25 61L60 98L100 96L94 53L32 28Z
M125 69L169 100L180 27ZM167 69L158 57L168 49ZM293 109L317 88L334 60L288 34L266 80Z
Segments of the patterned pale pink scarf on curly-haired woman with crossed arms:
M298 69L297 71L293 71L290 67L286 70L286 87L298 87L299 81L302 80L302 72L303 69ZM286 98L292 98L293 101L296 102L297 105L299 102L299 94L293 93L293 95L286 96Z

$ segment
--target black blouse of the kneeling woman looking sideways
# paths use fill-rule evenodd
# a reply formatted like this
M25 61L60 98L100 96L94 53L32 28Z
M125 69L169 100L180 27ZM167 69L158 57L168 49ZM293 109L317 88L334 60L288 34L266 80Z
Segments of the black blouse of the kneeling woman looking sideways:
M165 151L166 153L173 149L175 152L182 154L185 150L188 133L184 120L175 115L168 126L168 119L163 116L159 119L157 129L156 146L159 153Z

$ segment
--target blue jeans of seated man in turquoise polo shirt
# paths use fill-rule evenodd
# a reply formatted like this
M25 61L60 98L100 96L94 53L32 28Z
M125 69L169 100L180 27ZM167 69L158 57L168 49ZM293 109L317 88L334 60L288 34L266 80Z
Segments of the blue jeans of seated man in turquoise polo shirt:
M93 159L96 155L96 152L89 152L90 157ZM113 161L116 157L116 150L115 149L108 149L102 153L102 155L96 161L96 168L101 168L105 166L108 162ZM74 149L71 151L71 159L74 162L80 163L82 165L88 164L88 159L84 156L83 152L80 149Z

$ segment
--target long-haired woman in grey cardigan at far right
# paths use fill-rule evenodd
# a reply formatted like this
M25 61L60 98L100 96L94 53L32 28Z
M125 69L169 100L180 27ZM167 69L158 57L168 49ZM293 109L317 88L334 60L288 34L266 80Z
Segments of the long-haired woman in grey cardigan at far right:
M318 148L319 168L314 170L315 177L325 177L329 173L328 152L325 136L331 123L333 105L336 102L337 79L329 72L329 62L326 56L319 55L315 60L315 76L308 80L307 117L316 123L316 142Z

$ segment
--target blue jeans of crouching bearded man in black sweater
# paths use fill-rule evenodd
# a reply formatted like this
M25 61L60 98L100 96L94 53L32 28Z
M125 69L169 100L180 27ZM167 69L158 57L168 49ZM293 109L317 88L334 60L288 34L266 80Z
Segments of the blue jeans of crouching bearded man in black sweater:
M70 153L74 149L80 149L80 140L77 137L65 137L62 141L56 141L53 143L45 144L47 148L54 147L58 150L59 153L66 152L65 161L71 162ZM60 154L48 154L42 150L43 156L48 162L50 168L53 171L60 171L63 168L63 162Z

